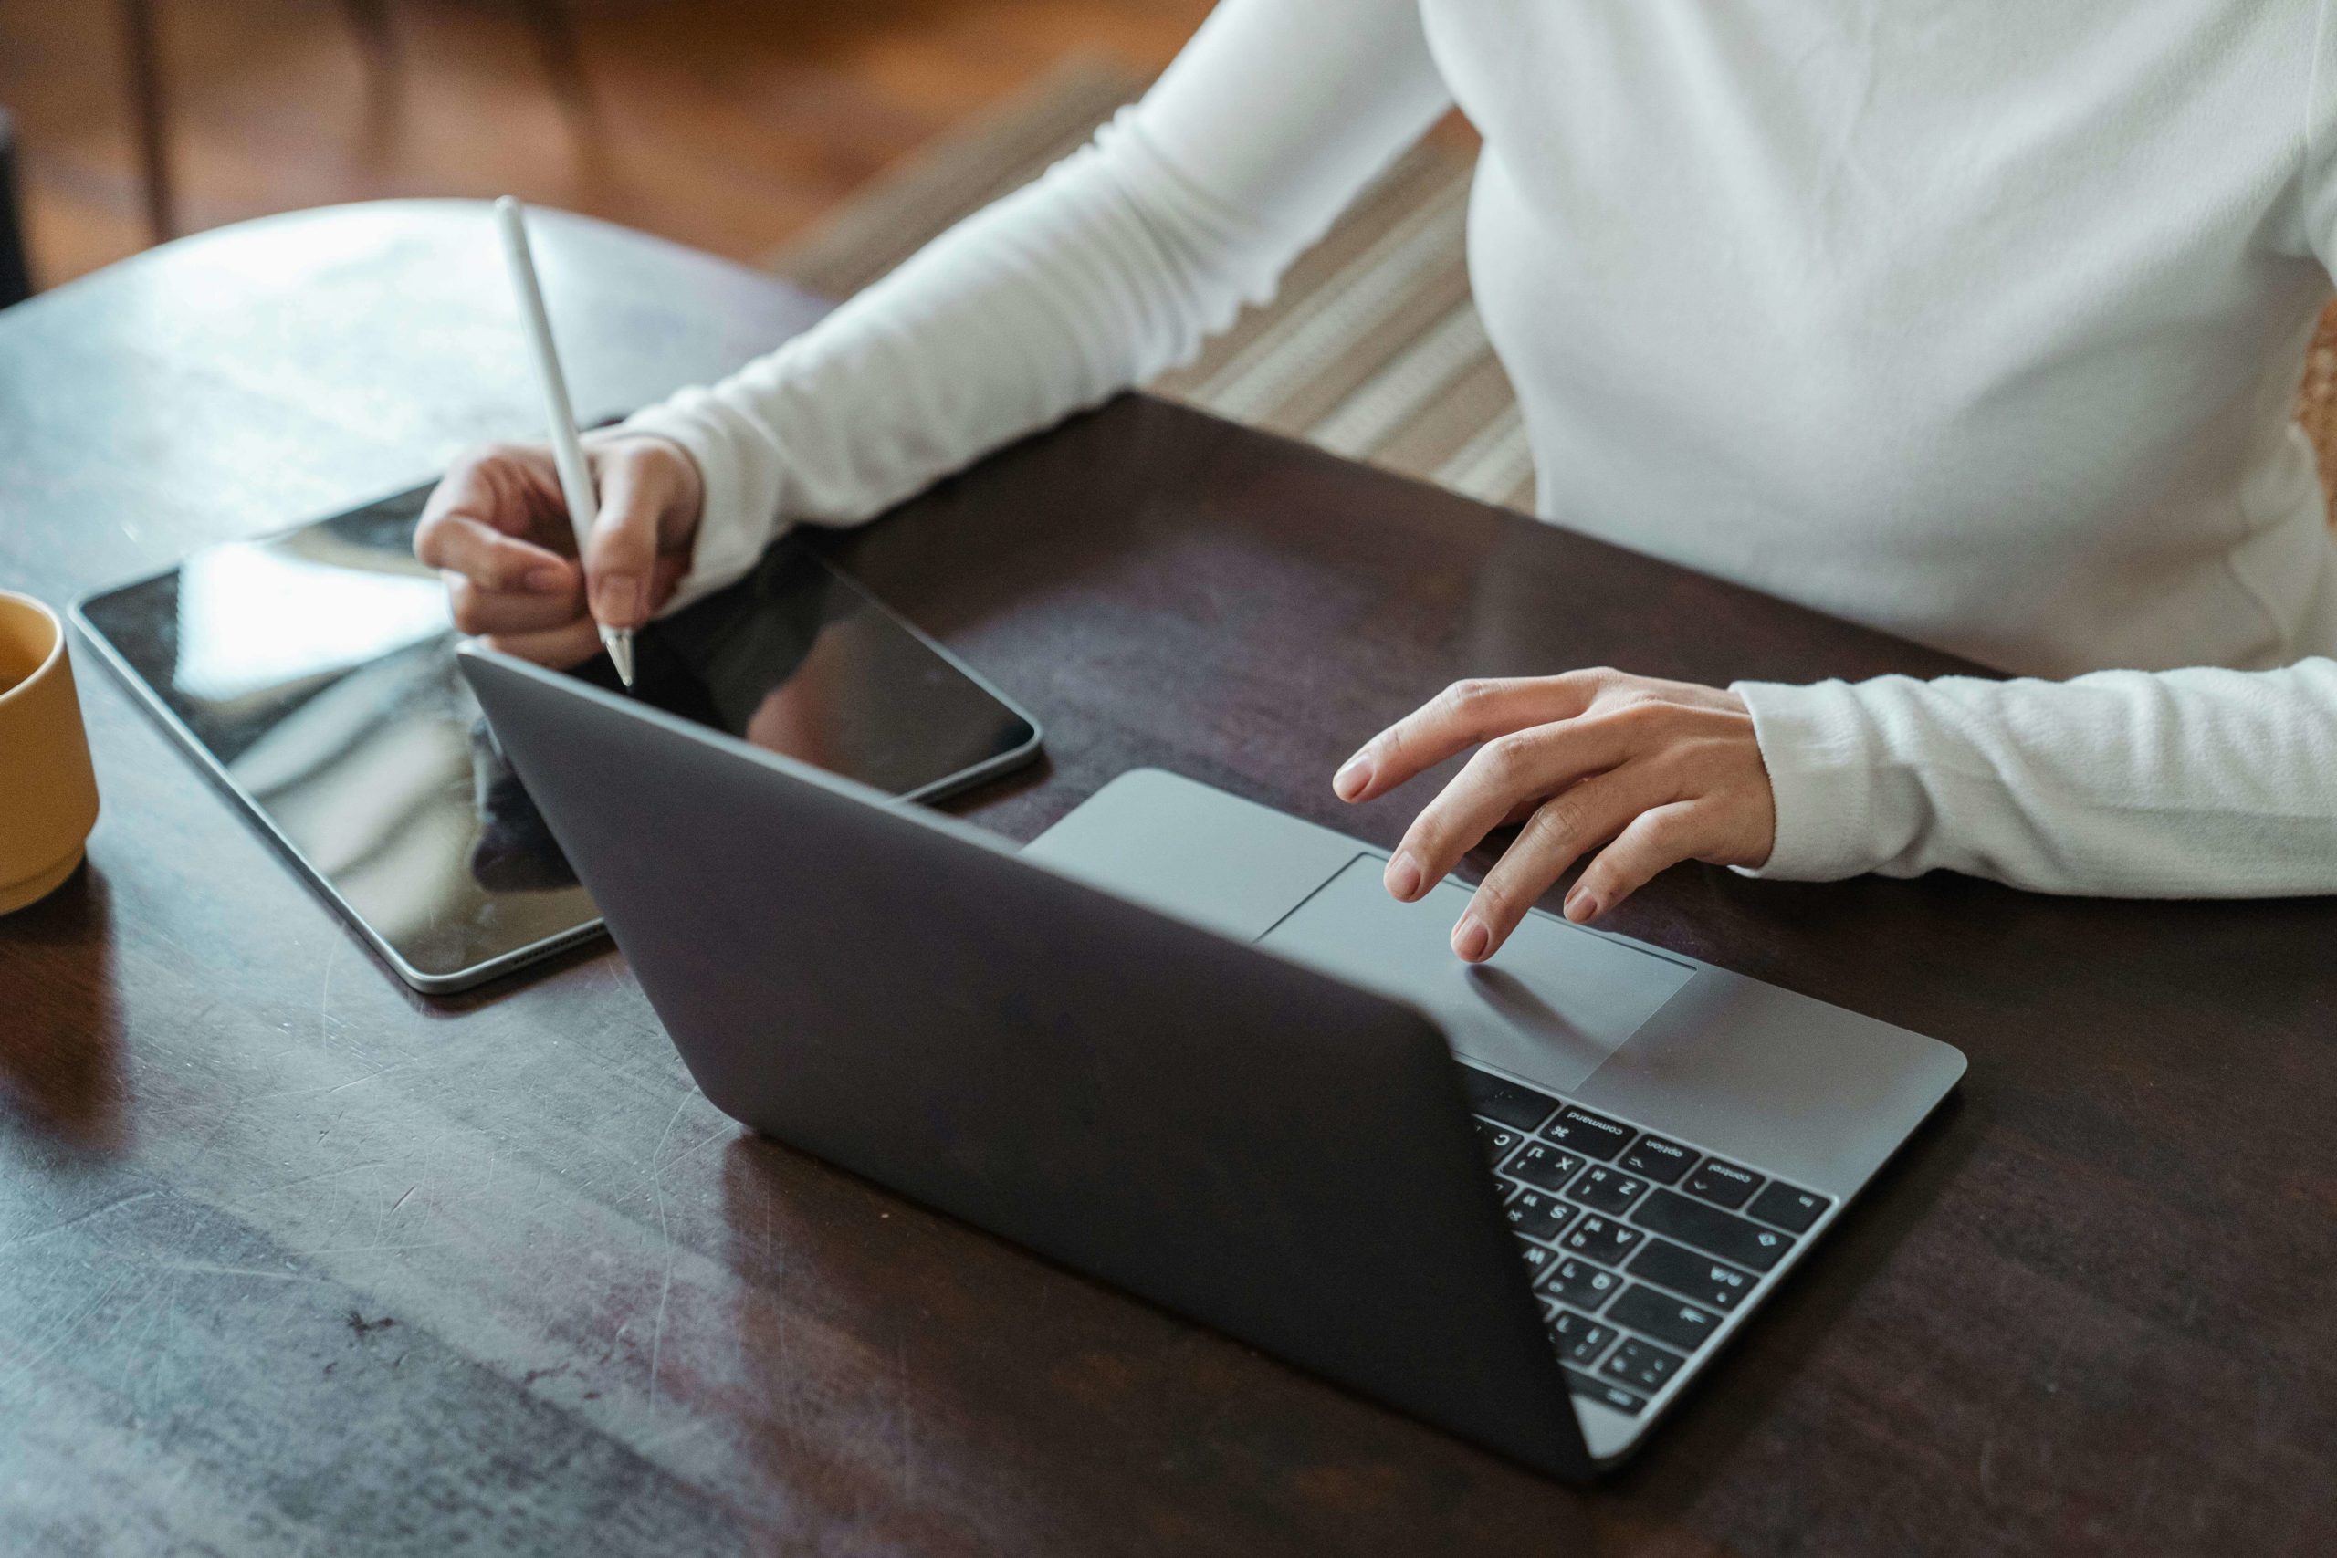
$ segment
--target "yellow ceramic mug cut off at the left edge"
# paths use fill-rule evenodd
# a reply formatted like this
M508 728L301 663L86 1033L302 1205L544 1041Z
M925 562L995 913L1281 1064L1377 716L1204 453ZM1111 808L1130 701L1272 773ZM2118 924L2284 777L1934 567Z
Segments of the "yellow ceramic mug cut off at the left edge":
M0 913L61 888L96 825L98 775L65 624L0 589Z

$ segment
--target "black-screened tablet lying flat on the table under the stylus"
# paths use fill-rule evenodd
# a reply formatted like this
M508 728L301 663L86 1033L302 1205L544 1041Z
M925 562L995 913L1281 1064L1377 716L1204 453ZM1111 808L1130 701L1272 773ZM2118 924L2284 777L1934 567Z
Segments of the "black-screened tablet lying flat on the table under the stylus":
M199 551L72 614L358 934L444 993L601 916L456 670L446 589L414 561L428 495ZM617 687L608 656L570 675ZM633 694L902 801L1040 747L1031 715L788 540L643 628Z

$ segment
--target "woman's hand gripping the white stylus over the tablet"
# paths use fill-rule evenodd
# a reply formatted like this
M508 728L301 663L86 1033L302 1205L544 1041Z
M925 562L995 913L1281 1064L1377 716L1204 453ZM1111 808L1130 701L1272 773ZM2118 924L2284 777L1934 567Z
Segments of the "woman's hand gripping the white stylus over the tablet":
M626 432L589 439L584 460L601 523L582 568L542 444L472 448L430 493L414 556L444 570L458 631L545 666L575 666L598 654L601 626L638 628L673 598L706 502L696 460L680 444Z

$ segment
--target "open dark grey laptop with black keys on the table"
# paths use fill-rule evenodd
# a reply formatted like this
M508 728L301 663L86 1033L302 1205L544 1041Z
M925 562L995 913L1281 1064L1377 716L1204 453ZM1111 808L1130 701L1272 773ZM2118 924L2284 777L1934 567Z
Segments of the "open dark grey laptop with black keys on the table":
M1161 771L1024 850L465 647L741 1124L1545 1474L1631 1455L1965 1060Z

